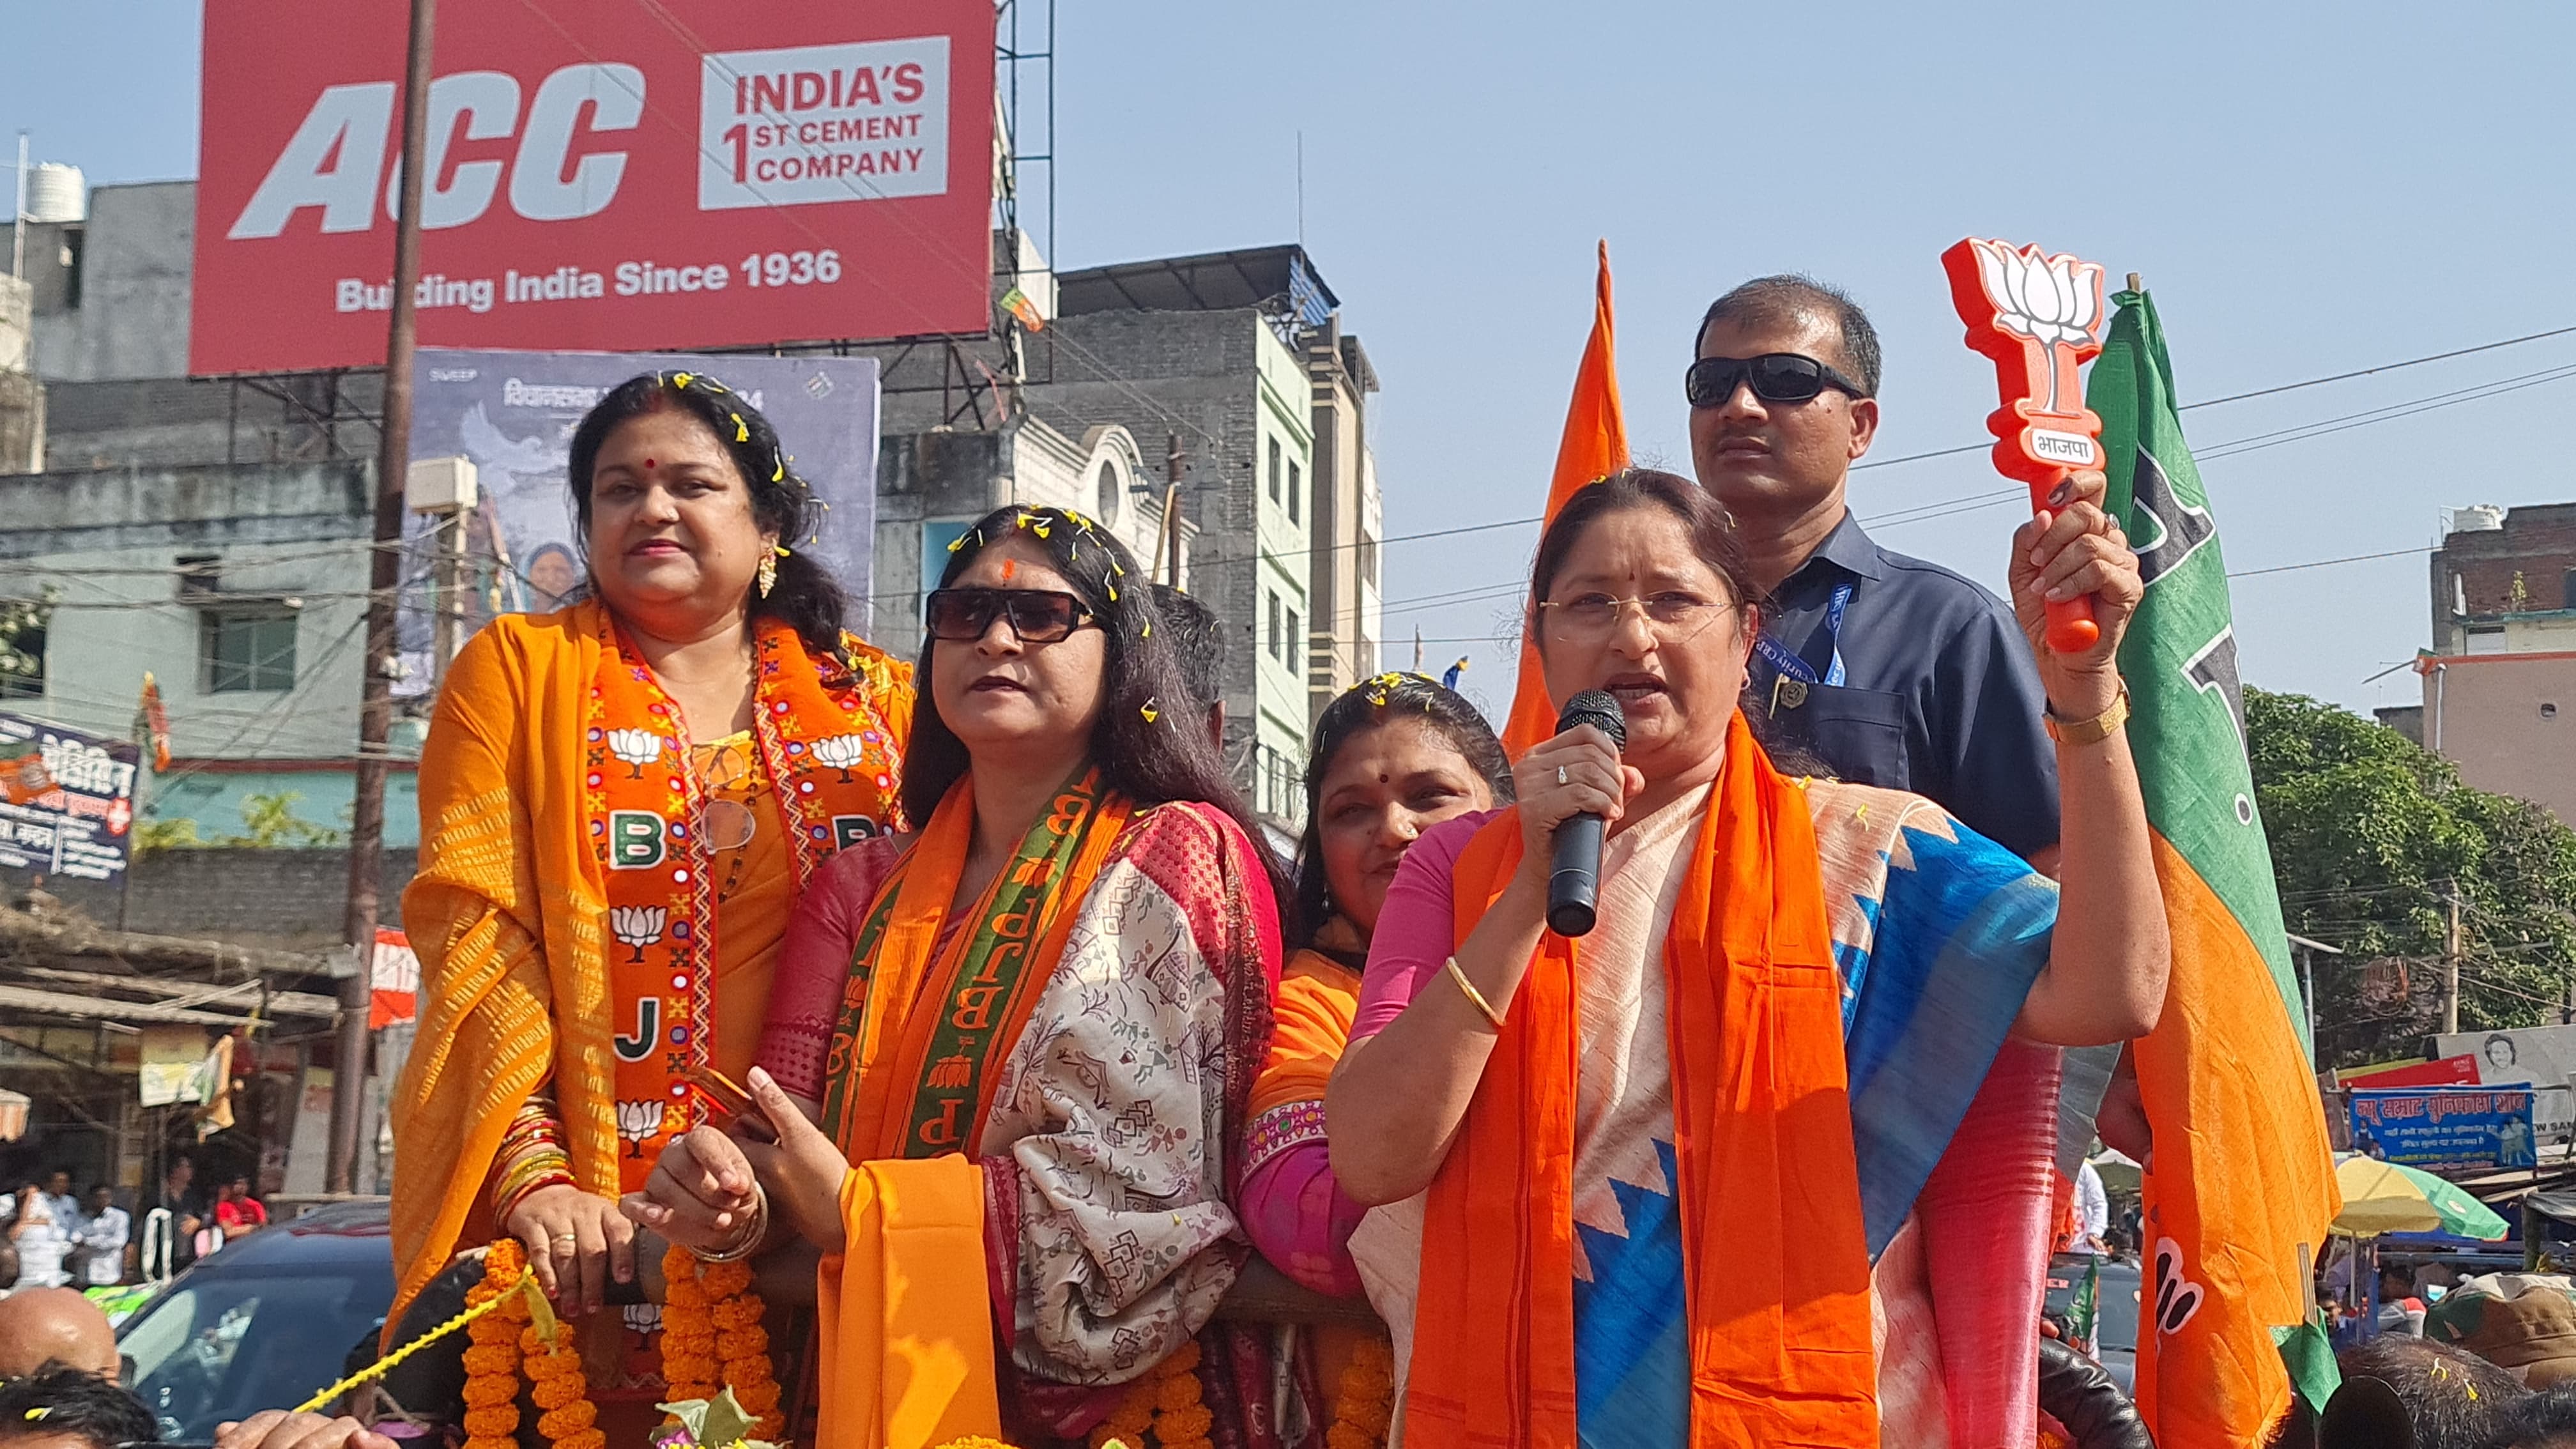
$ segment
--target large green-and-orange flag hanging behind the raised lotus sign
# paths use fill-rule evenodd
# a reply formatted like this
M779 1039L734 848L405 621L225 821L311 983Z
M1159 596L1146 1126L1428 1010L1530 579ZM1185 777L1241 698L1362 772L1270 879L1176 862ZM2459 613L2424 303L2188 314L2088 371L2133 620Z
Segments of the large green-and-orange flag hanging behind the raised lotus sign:
M2262 1444L2290 1408L2280 1346L2311 1328L2308 1266L2342 1194L2254 810L2218 521L2156 307L2143 291L2112 302L2087 405L2146 578L2120 673L2174 933L2164 1021L2133 1047L2154 1129L2138 1408L2156 1444L2215 1449Z

